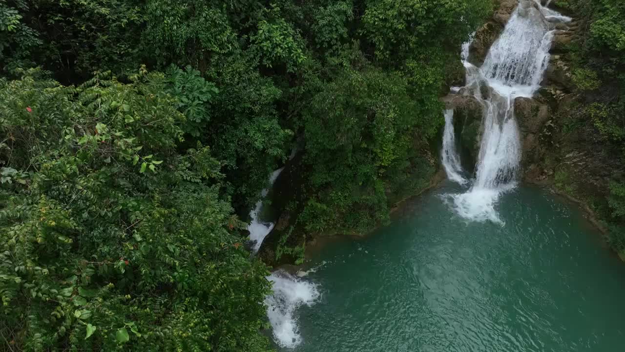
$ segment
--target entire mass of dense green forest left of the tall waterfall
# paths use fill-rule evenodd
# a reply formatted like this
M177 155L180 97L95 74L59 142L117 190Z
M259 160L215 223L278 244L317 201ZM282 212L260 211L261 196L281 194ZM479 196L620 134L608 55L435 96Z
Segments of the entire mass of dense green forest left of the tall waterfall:
M447 72L491 8L0 0L0 343L270 349L239 218L297 146L288 234L387 219L431 177Z

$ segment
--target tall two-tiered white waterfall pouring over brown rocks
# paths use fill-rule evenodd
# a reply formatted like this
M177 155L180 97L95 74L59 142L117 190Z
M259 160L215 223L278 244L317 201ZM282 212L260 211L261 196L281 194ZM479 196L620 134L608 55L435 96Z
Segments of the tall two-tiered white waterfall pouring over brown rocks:
M475 96L484 105L485 112L476 178L467 192L448 195L461 217L502 224L494 206L502 192L516 186L515 177L521 162L514 100L519 96L531 97L539 88L549 63L553 22L566 19L542 7L539 1L522 0L501 36L492 44L481 68L467 62L470 43L462 46L466 86L452 88L452 91ZM485 91L487 96L482 96ZM446 116L445 135L447 130L453 135L452 129L452 120ZM442 158L449 158L446 148L443 148ZM447 170L447 166L445 168ZM456 173L450 175L448 171L449 179L462 184L457 179L460 171L452 170Z

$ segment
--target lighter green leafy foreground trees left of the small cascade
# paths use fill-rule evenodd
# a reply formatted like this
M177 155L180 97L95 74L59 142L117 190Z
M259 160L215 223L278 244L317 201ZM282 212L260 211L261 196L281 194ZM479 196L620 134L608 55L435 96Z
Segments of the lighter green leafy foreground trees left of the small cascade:
M176 146L163 75L0 84L0 334L19 348L261 349L269 289L231 229L220 163ZM129 334L128 332L131 331ZM89 336L89 338L86 338ZM121 337L120 337L121 336ZM249 336L240 339L239 336ZM126 347L128 349L128 347Z

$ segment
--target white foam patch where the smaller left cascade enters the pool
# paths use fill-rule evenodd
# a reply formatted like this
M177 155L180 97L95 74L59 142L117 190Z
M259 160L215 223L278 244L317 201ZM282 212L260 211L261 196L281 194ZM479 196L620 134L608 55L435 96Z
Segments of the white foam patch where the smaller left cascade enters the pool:
M273 282L273 293L265 304L274 341L282 348L294 348L302 341L295 311L304 304L312 306L321 294L316 284L284 271L273 272L267 279Z

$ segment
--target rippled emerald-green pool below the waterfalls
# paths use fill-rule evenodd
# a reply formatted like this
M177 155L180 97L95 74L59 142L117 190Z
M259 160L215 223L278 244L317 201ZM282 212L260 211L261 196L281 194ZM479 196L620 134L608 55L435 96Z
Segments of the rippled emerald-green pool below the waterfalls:
M325 246L284 351L625 351L625 264L582 213L544 190L503 195L504 226L422 196L365 239ZM325 262L325 264L323 264Z

